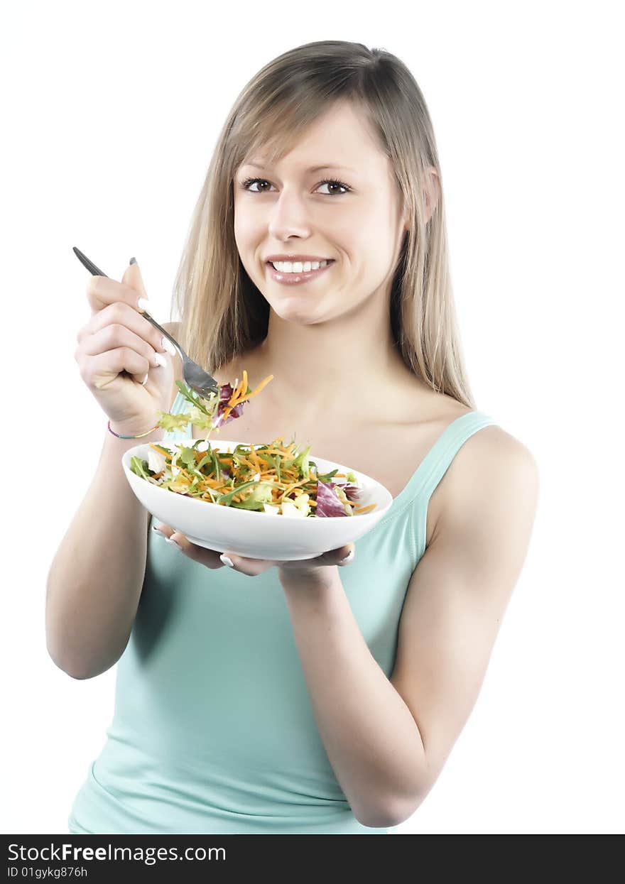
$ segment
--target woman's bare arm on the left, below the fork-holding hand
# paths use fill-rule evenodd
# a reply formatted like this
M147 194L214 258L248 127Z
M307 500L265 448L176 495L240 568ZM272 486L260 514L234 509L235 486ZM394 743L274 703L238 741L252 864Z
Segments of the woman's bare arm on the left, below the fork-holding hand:
M178 324L165 324L175 336ZM174 382L181 377L173 360ZM171 401L178 392L175 383ZM120 439L108 430L95 476L58 547L46 583L46 644L54 663L72 678L110 669L128 644L141 598L149 513L127 482L122 455L143 439Z

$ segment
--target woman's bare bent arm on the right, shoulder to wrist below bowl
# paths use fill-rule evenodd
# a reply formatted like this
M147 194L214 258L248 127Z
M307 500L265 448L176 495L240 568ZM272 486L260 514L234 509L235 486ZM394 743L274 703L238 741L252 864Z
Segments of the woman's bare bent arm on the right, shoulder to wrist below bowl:
M281 577L319 733L364 826L399 825L436 781L522 569L536 464L499 428L488 440L483 433L465 446L468 469L408 586L391 679L371 656L338 574L330 583Z

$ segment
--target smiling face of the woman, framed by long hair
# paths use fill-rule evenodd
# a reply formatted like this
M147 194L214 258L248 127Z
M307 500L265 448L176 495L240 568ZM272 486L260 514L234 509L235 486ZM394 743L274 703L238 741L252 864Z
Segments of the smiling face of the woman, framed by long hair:
M332 105L275 167L265 167L262 153L246 161L234 176L234 238L249 278L278 316L323 322L390 290L406 219L391 163L362 111ZM246 179L258 180L245 189ZM267 263L277 254L333 263L309 282L285 285L271 278Z

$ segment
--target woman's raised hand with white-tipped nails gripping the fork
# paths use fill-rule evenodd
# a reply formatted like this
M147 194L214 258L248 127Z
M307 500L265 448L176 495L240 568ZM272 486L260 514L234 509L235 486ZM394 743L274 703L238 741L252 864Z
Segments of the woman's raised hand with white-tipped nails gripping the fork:
M122 281L88 279L91 319L76 339L74 359L89 391L109 417L114 431L135 436L150 430L157 411L169 411L173 389L172 357L163 336L138 307L148 297L138 264L129 264ZM165 365L156 364L156 354Z

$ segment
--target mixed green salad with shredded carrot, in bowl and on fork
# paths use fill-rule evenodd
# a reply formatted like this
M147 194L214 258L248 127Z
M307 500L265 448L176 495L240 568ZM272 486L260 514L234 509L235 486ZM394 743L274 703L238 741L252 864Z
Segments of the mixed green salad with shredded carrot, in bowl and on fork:
M193 444L173 443L172 450L149 443L148 459L134 456L130 469L147 482L168 491L207 503L236 509L257 510L298 518L359 515L376 507L359 507L361 484L353 472L332 469L319 474L309 460L311 446L300 451L292 439L274 439L268 445L240 443L231 452L210 444L210 433L219 431L242 414L243 406L273 378L265 377L254 391L248 373L232 387L221 385L218 393L203 399L184 381L176 381L192 408L184 415L159 412L157 425L165 431L184 429L189 423L207 431Z

